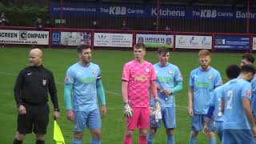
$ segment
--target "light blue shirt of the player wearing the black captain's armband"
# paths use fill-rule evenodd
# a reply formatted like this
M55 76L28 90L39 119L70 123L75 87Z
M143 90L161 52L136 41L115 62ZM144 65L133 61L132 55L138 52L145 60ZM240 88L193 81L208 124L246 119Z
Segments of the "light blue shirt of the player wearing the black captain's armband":
M66 72L65 84L72 85L71 99L74 111L95 110L97 105L96 81L101 79L98 65L90 62L82 66L79 62Z

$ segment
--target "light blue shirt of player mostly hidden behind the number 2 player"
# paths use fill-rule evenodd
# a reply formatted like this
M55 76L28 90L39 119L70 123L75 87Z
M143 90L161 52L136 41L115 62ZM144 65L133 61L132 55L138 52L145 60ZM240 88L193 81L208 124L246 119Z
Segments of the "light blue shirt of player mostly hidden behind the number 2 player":
M225 85L223 85L223 86L225 86ZM214 106L214 120L218 121L218 122L223 121L223 114L221 112L223 86L218 86L214 90L214 96L212 98L210 98L210 106Z

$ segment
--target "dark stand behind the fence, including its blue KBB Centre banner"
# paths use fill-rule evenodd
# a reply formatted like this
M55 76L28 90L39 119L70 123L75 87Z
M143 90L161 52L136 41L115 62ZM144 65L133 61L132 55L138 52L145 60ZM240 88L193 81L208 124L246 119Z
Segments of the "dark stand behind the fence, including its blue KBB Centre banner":
M50 18L55 27L211 33L255 33L256 2L252 0L52 0Z

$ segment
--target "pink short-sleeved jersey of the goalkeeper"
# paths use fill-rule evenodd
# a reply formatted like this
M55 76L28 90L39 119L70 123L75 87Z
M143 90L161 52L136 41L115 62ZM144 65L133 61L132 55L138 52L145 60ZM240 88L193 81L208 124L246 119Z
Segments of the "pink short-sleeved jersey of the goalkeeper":
M142 64L136 60L125 64L122 72L122 80L128 82L128 100L132 107L148 107L150 102L150 81L154 81L156 75L150 62Z

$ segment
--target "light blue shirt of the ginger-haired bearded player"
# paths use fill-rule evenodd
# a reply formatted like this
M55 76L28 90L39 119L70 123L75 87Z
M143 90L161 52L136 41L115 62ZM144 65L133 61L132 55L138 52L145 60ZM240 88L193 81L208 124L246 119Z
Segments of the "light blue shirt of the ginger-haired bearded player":
M208 70L202 70L198 67L191 71L190 88L194 90L194 114L207 114L210 98L214 95L214 88L221 85L221 75L213 67Z

